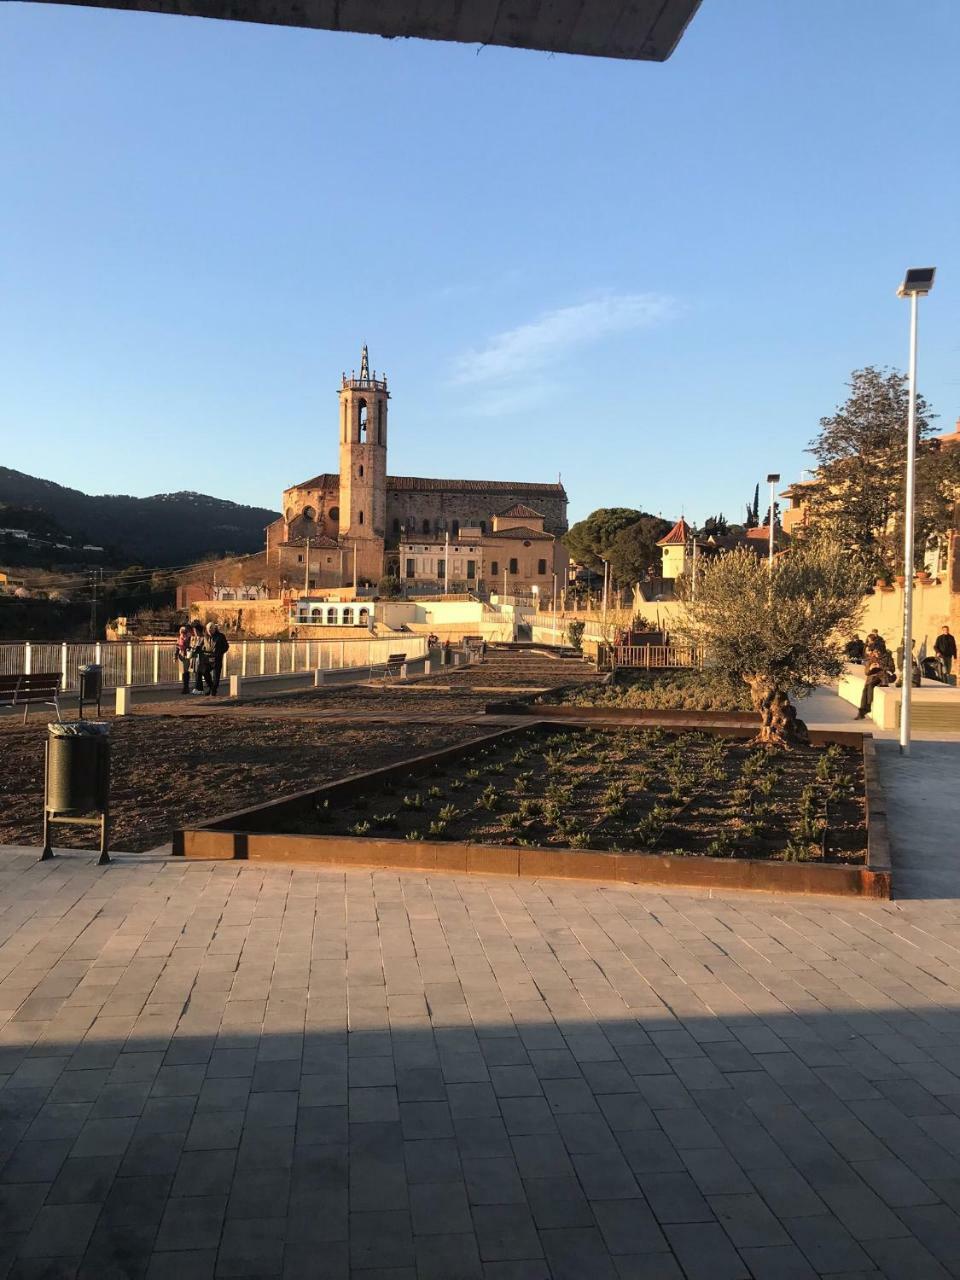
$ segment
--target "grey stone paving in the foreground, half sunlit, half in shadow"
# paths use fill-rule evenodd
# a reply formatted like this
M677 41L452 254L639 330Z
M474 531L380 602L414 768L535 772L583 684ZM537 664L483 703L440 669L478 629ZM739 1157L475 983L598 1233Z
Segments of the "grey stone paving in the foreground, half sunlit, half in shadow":
M0 1276L960 1277L960 904L0 851Z

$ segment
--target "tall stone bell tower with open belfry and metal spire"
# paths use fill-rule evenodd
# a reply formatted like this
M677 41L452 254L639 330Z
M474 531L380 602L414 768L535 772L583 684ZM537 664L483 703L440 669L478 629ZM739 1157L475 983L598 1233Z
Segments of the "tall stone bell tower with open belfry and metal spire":
M344 374L340 401L340 541L356 548L357 580L383 573L387 531L387 379L370 372L366 346L360 376ZM352 575L353 564L344 564Z

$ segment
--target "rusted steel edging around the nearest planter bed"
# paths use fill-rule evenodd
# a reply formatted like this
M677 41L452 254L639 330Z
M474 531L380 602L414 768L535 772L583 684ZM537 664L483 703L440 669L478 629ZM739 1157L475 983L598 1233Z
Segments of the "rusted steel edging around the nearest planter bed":
M174 833L173 852L186 858L242 859L330 867L384 868L396 870L442 870L513 878L554 877L607 881L628 884L667 884L763 892L828 893L888 899L892 890L886 801L877 771L876 749L869 735L812 732L822 745L863 744L867 818L867 861L861 865L780 863L748 858L707 858L691 854L608 852L605 850L547 849L518 845L489 845L474 841L396 840L375 836L284 835L270 828L280 819L311 813L326 795L353 795L371 783L399 781L429 773L479 748L520 736L530 728L549 728L549 719L530 721L412 756L379 769L353 773L308 791L264 805L224 814ZM728 733L735 726L704 724L704 731ZM739 736L739 735L737 735Z

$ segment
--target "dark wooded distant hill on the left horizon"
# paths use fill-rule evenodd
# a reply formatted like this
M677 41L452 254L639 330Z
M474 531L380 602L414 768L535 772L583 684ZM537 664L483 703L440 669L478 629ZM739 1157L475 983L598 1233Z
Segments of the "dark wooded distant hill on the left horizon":
M8 508L12 525L9 508L20 508L17 516L36 513L33 527L49 521L69 534L77 548L93 543L114 561L151 566L262 550L264 527L278 516L266 507L243 507L205 493L92 495L9 467L0 467L0 506Z

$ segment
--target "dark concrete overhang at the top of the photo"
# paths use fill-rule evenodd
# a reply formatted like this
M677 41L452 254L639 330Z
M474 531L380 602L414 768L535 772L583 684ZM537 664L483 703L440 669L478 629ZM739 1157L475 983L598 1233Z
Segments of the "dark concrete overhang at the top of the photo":
M96 8L662 63L699 5L700 0L100 0Z

